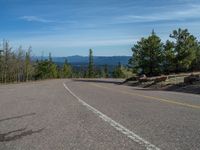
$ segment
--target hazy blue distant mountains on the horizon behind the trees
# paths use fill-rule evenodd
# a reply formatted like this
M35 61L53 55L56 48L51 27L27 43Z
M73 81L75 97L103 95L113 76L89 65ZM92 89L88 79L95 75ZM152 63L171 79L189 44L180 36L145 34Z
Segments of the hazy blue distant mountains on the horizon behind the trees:
M128 61L131 57L130 56L94 56L94 63L95 65L109 65L109 66L115 66L119 62L122 65L127 65ZM34 60L41 59L41 57L34 57ZM43 59L48 59L48 57L43 57ZM53 61L57 64L63 64L65 59L68 60L68 62L75 66L84 66L88 63L88 56L68 56L68 57L52 57Z

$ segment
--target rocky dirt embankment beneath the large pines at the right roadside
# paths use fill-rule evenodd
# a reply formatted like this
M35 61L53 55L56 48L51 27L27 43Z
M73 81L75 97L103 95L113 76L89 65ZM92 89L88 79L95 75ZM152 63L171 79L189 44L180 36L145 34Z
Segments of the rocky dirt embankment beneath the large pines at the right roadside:
M124 81L123 84L151 90L200 94L200 72L157 77L134 76Z

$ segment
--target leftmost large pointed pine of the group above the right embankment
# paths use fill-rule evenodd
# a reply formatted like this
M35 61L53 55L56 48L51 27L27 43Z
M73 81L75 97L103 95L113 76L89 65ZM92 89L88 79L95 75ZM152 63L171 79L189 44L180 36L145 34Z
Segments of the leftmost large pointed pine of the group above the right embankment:
M149 76L158 75L161 72L163 44L154 33L142 38L132 48L133 57L130 60L134 71Z

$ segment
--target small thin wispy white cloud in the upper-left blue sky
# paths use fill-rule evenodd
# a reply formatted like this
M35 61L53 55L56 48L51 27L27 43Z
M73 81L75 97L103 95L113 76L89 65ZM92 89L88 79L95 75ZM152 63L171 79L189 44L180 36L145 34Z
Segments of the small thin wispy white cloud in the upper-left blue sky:
M20 17L21 20L28 21L28 22L41 22L41 23L50 23L54 22L52 20L44 19L37 16L22 16Z

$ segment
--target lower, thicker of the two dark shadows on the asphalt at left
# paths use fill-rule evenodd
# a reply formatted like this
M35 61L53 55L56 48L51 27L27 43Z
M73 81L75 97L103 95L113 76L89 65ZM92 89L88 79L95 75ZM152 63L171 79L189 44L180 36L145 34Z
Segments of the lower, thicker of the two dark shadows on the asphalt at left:
M40 133L40 132L42 132L42 130L44 130L44 128L41 128L38 130L26 130L26 128L21 128L18 130L9 131L7 133L0 134L0 142L15 141L17 139L21 139L28 135Z

